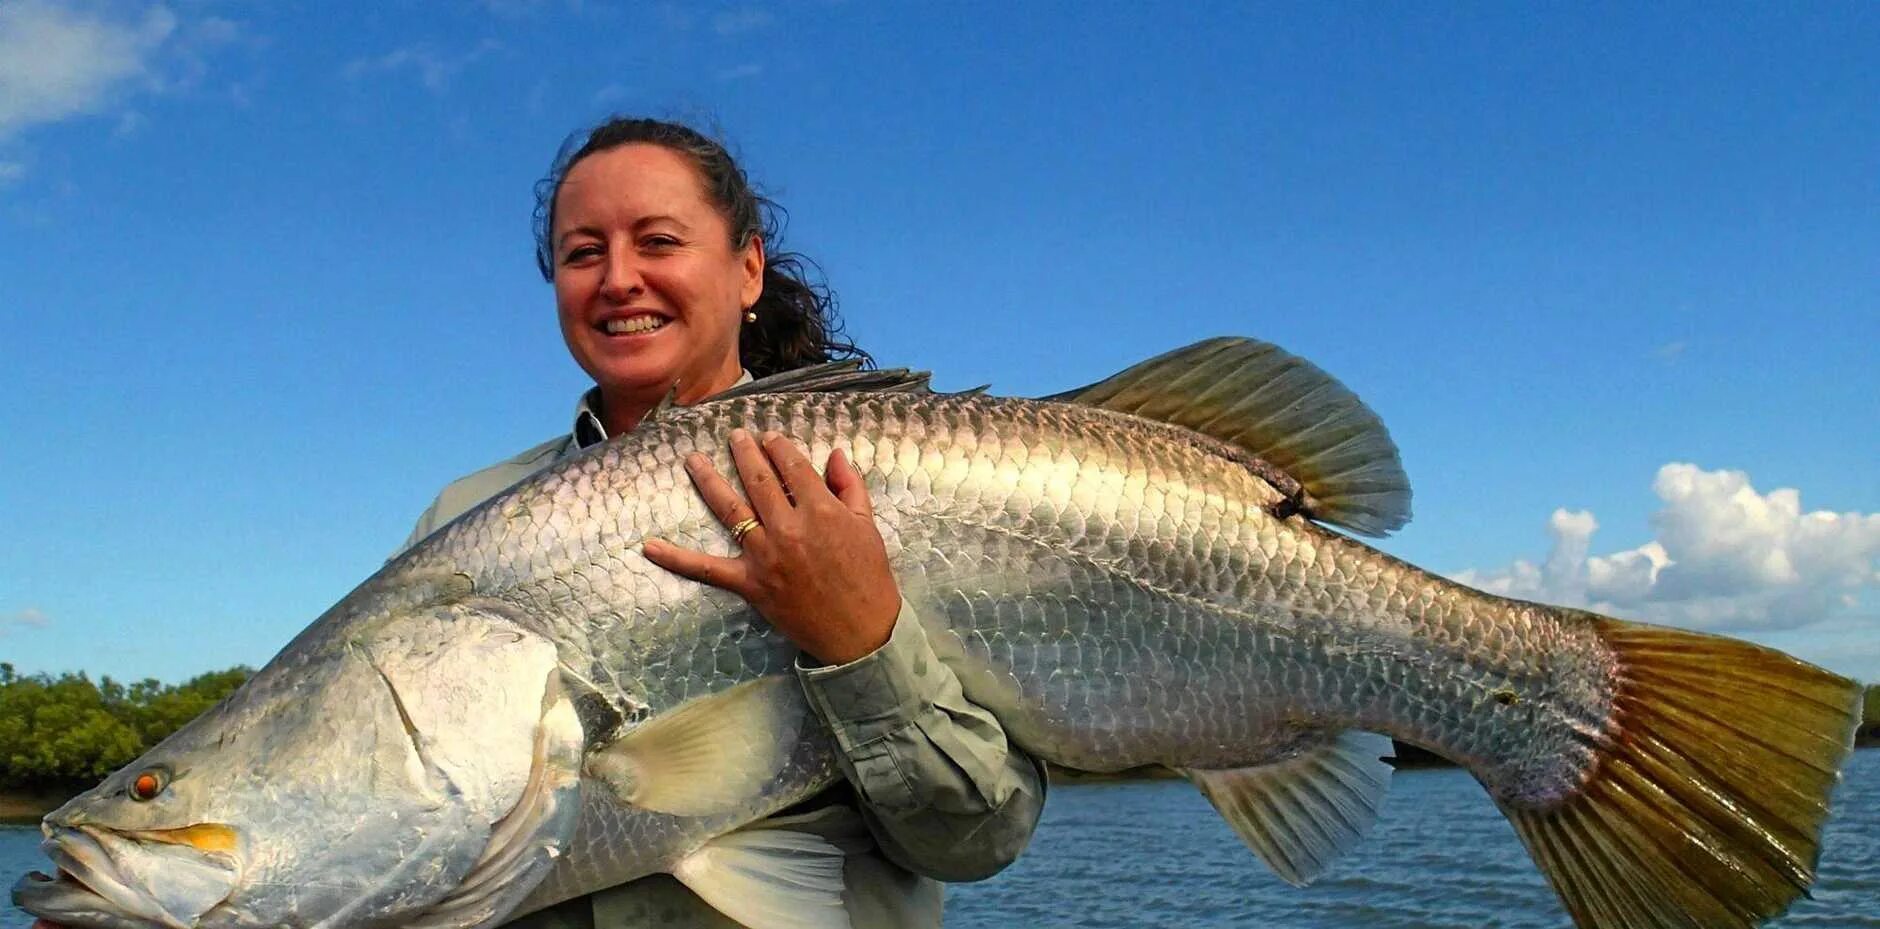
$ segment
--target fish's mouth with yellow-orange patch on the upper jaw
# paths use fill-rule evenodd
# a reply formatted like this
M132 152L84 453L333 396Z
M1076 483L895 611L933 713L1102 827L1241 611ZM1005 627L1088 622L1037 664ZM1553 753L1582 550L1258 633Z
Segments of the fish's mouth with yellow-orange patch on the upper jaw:
M147 833L47 826L39 848L56 874L23 876L13 884L13 905L70 927L190 929L227 899L237 876L233 842L201 841L201 829L233 835L218 826Z

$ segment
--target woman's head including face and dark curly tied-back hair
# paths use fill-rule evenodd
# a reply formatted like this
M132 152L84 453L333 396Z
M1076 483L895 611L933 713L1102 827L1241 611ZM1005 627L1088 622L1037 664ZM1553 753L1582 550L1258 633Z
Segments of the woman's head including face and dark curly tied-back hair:
M778 248L778 213L688 126L611 120L556 156L536 188L536 265L575 361L602 399L620 401L603 417L613 431L675 382L681 401L697 401L743 370L869 359L840 337L807 261ZM667 333L677 339L660 348L626 339L671 323L690 335Z

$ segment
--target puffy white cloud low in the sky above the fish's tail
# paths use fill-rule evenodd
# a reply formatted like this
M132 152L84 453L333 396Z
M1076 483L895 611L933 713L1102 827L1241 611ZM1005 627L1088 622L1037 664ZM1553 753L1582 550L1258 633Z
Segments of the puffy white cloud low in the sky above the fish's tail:
M1795 489L1763 495L1739 470L1679 463L1658 468L1653 493L1664 506L1643 545L1592 555L1592 513L1555 510L1545 562L1455 579L1523 600L1731 630L1814 624L1880 587L1880 513L1805 513Z

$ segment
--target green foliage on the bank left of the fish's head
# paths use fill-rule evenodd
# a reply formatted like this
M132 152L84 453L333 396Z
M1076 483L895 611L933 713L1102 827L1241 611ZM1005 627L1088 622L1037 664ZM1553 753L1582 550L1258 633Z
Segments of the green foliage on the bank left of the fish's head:
M92 683L83 673L19 675L0 662L0 790L90 782L216 705L248 675L229 668L167 686Z

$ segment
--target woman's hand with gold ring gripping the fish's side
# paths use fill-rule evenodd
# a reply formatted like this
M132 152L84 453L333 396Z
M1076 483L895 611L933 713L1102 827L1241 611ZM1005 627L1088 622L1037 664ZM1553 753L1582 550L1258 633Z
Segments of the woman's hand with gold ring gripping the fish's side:
M750 602L778 632L823 664L846 664L887 641L901 613L901 590L861 472L840 449L827 478L790 438L731 431L731 457L746 502L711 459L686 457L686 472L705 506L726 527L756 519L743 557L720 559L647 540L647 560Z

